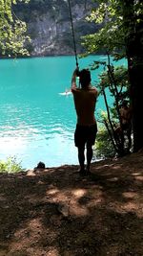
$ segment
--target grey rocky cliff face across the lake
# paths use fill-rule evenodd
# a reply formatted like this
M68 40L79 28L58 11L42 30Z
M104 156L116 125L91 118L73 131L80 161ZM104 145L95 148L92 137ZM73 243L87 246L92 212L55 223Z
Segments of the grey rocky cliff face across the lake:
M15 12L28 25L31 56L74 54L72 24L77 54L82 53L81 36L97 30L95 24L85 20L94 5L92 0L71 0L71 22L67 0L32 0L27 5L19 3Z

